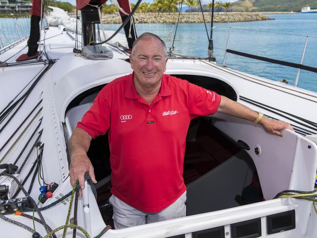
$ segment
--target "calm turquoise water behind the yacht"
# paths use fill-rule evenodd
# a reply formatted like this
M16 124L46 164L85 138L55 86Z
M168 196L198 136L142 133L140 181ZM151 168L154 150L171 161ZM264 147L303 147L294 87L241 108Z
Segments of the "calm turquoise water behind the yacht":
M317 67L317 14L278 14L267 15L275 20L215 23L214 24L214 54L218 64L222 64L224 50L231 27L229 49L253 55L300 63L306 36L309 36L303 60L304 65ZM205 17L209 17L207 14ZM12 19L11 19L12 20ZM3 22L8 24L8 19L0 19L0 30L4 32ZM27 22L28 20L26 20ZM23 34L27 28L25 20L20 22ZM11 27L11 28L10 28ZM16 25L10 25L6 35L14 35ZM105 24L105 29L116 30L119 24ZM172 24L136 24L137 33L150 31L160 36L167 45L172 44L174 33ZM174 25L175 32L176 25ZM210 23L207 24L210 34ZM122 32L123 33L123 32ZM173 36L173 37L172 37ZM0 37L5 40L0 32ZM172 40L171 40L172 39ZM1 45L0 45L1 46ZM203 23L182 23L178 25L174 43L175 53L196 57L207 57L208 40ZM294 85L297 69L282 65L262 62L227 54L226 65L233 69L258 75L264 78L281 80L287 79ZM298 87L317 92L317 74L301 70Z

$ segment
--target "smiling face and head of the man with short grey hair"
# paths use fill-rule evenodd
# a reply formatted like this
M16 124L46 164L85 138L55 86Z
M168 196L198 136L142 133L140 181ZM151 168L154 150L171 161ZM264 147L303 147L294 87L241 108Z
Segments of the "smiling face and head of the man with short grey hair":
M162 43L156 38L148 37L139 40L134 47L130 62L135 83L146 88L157 86L161 82L167 62Z

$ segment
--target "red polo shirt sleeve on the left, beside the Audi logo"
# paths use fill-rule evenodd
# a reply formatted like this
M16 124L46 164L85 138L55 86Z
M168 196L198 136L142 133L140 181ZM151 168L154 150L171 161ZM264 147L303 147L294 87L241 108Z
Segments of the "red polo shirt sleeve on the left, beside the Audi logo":
M101 90L93 105L84 114L77 127L85 130L92 138L104 135L110 126L110 107Z

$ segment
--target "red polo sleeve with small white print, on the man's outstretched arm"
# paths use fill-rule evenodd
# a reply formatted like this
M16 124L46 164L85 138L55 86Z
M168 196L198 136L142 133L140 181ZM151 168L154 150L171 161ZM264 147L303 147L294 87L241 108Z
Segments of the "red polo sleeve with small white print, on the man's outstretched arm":
M188 91L188 107L191 119L217 112L221 97L216 92L192 83L189 83Z

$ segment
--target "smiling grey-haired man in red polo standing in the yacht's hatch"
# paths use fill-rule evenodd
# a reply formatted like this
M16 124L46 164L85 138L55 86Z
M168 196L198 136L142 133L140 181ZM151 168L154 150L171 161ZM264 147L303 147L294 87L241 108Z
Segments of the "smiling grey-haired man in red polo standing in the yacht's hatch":
M116 228L184 217L186 187L182 178L190 120L217 111L259 123L278 136L292 127L263 117L246 106L186 80L164 75L164 42L142 34L130 56L134 72L107 84L78 123L70 139L70 180L87 172L92 138L109 129L111 181Z

